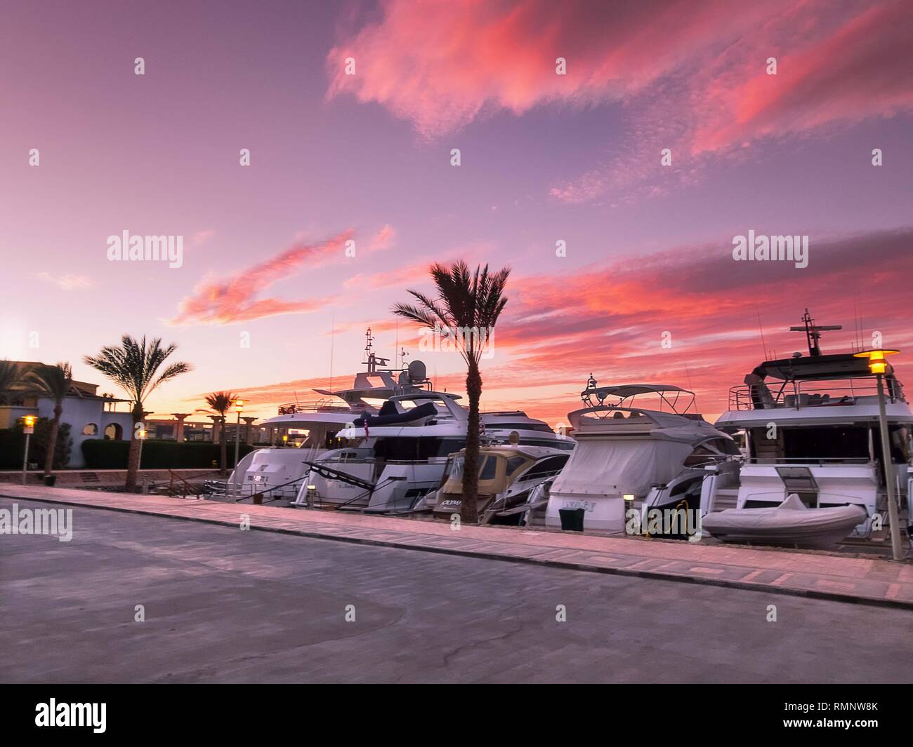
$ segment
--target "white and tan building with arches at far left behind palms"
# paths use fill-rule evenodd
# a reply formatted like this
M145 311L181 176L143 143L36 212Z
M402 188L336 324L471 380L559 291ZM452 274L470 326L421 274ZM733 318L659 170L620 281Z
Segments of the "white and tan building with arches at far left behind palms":
M33 368L44 364L16 361L19 366ZM22 388L20 388L22 389ZM98 384L85 381L74 381L70 392L63 403L61 423L69 424L69 435L73 439L70 451L70 468L83 466L82 442L89 439L110 439L120 441L130 437L132 418L130 401L117 399L111 395L97 393ZM118 411L121 403L126 404L126 412ZM12 428L24 415L37 415L39 418L54 417L54 400L46 397L35 397L26 391L14 390L0 395L0 428Z

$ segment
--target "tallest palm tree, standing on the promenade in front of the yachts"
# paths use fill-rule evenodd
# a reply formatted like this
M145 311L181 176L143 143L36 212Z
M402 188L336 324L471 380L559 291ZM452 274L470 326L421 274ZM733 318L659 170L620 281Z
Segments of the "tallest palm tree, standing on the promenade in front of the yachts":
M468 523L477 522L478 488L478 400L482 396L482 376L478 361L485 349L501 311L507 304L503 296L510 268L488 274L488 265L469 272L465 262L453 265L431 265L429 272L437 286L437 297L430 298L409 290L418 306L394 304L394 314L418 322L452 340L466 361L466 391L469 397L469 420L466 433L466 457L463 468L463 501L460 516Z

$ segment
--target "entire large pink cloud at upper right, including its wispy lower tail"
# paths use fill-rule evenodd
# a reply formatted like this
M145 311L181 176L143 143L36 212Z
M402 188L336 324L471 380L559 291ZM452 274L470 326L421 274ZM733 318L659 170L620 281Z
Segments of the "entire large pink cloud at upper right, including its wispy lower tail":
M388 0L378 20L331 49L328 98L380 103L425 138L498 111L622 102L627 131L611 160L549 194L631 202L695 182L709 154L913 109L911 36L906 0L738 10L712 0ZM347 57L355 75L346 75ZM776 76L764 70L768 57ZM662 148L673 150L675 168L660 176Z

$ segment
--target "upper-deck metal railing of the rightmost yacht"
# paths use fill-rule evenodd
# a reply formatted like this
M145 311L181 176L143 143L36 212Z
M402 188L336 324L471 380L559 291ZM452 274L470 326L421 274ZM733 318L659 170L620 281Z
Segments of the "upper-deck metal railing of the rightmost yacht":
M886 387L885 394L890 402L900 396L890 385ZM783 381L779 387L772 383L744 384L729 389L729 410L841 407L854 405L856 399L877 395L878 388L872 379Z

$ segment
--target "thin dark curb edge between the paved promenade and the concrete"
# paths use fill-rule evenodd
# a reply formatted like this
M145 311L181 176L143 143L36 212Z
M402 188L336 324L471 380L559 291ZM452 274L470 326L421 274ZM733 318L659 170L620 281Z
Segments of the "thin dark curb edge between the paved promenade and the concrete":
M178 516L175 514L162 514L151 509L142 508L124 508L122 506L104 506L92 503L70 503L69 501L56 500L54 498L33 498L21 495L6 495L0 493L0 498L8 498L15 501L32 501L35 503L57 503L79 508L90 508L99 511L116 511L121 514L140 514L143 516L160 516L165 519L176 519L178 521L198 522L200 524L217 524L219 526L236 527L236 522L229 522L224 519L215 519L203 516ZM858 597L852 594L842 594L840 592L820 591L817 589L798 589L784 586L769 586L764 584L752 584L750 581L738 581L726 578L707 578L704 576L685 576L682 574L669 573L663 571L638 571L628 568L610 568L601 565L585 565L582 563L570 563L561 560L544 560L534 557L520 555L500 555L491 552L474 552L471 550L460 550L451 547L434 547L429 545L411 545L408 543L396 542L394 540L377 540L366 537L341 536L338 534L321 534L305 529L285 529L282 527L259 526L250 524L252 530L259 532L271 532L273 534L289 534L292 536L308 537L309 539L320 539L331 542L347 542L352 545L373 545L375 547L393 547L398 550L415 550L420 553L436 553L437 555L457 555L459 557L477 557L483 560L499 560L508 563L525 563L529 565L544 565L551 568L561 568L562 570L587 571L589 573L599 573L607 576L628 576L635 578L649 578L655 581L677 581L685 584L696 584L699 586L722 586L726 588L735 588L742 591L767 592L768 594L781 595L784 597L805 597L808 599L822 599L830 602L843 602L849 604L866 605L868 607L888 607L893 609L913 610L913 601L903 599L881 599L877 597Z

